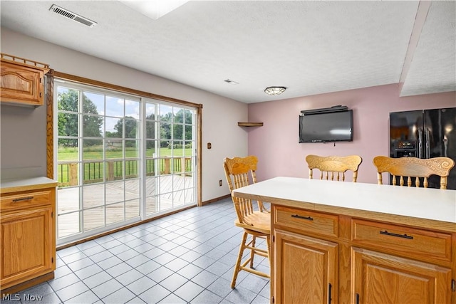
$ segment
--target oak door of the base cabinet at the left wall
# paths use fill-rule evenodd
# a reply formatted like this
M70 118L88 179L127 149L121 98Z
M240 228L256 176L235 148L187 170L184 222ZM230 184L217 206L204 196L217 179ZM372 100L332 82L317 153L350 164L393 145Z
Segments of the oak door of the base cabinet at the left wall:
M52 207L1 215L1 287L8 288L54 269Z

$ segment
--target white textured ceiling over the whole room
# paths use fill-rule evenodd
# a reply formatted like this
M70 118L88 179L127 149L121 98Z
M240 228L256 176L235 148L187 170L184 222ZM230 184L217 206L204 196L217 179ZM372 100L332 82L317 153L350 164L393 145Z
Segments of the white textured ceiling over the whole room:
M120 1L0 5L2 27L244 103L400 80L403 96L456 90L455 1L189 1L157 20Z

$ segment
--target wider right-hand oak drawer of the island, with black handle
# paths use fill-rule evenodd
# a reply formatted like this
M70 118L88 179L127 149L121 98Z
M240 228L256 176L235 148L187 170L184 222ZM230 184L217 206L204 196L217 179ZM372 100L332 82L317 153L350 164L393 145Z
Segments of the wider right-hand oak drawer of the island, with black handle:
M352 220L351 231L356 243L388 248L408 255L444 261L451 259L451 234L361 219Z

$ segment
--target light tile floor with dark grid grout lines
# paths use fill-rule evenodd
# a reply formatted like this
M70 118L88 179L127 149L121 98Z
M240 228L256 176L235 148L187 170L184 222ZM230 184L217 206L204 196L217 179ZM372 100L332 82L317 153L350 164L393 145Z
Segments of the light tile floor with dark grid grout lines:
M241 271L231 199L57 251L55 278L19 292L21 303L269 303L266 278ZM260 245L266 248L264 241ZM256 268L269 272L259 257ZM43 297L28 301L27 297ZM19 303L2 300L1 303Z

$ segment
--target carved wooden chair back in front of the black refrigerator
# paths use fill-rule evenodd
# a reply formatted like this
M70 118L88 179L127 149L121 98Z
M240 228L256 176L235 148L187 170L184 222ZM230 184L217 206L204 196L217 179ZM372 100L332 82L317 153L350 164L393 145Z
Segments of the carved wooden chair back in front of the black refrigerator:
M448 175L452 167L455 167L455 161L449 157L433 157L420 159L417 157L400 157L391 158L385 156L376 156L373 158L373 164L377 167L378 184L383 184L382 173L388 172L393 175L393 185L403 186L405 183L408 187L412 184L420 187L420 179L423 179L423 187L427 188L427 179L431 175L440 176L440 189L447 189ZM404 182L404 178L407 180ZM415 178L415 183L412 182Z

